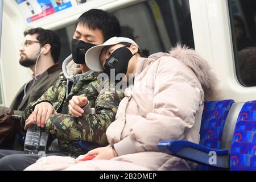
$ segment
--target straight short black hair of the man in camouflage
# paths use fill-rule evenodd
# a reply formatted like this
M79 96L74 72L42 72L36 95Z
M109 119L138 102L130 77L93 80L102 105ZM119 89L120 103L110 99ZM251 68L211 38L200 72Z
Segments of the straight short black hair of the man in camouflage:
M103 10L91 9L83 13L75 24L75 29L78 24L82 24L88 27L90 30L95 30L96 28L102 31L104 36L104 42L113 36L120 36L121 27L118 19Z

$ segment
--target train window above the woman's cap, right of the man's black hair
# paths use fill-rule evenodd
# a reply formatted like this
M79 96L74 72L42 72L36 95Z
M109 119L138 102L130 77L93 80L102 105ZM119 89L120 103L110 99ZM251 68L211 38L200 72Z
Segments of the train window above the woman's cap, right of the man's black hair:
M134 39L145 55L170 51L177 42L195 48L188 0L148 0L113 14L122 36Z

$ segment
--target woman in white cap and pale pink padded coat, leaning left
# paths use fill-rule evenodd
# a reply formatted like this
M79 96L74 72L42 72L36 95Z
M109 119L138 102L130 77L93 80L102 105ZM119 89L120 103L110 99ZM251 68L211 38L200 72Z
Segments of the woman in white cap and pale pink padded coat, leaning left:
M109 146L91 150L77 159L67 159L63 169L189 170L196 167L159 152L157 146L160 140L199 143L204 101L211 100L217 88L215 75L209 71L207 61L186 47L177 46L170 53L159 52L148 58L138 52L133 40L117 37L86 52L88 68L97 72L105 70L110 77L111 69L114 73L131 73L134 85L126 88L116 120L106 131ZM94 159L79 163L88 158ZM54 158L49 160L51 165L42 165L60 169L52 163ZM40 167L38 163L31 169Z

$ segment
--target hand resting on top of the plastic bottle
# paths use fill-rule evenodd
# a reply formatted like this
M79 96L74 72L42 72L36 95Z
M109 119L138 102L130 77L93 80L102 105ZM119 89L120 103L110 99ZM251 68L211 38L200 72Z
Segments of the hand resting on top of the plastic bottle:
M25 130L31 125L38 125L38 127L44 127L46 125L47 119L49 119L51 114L57 114L54 107L49 104L49 102L41 102L35 106L32 114L27 118L25 124Z

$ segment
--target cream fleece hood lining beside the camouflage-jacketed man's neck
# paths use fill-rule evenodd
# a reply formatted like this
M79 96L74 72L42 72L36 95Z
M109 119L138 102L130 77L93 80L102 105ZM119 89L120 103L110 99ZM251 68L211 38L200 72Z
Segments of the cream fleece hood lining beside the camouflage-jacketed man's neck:
M73 61L72 54L63 61L62 70L67 79L82 73L80 65Z

